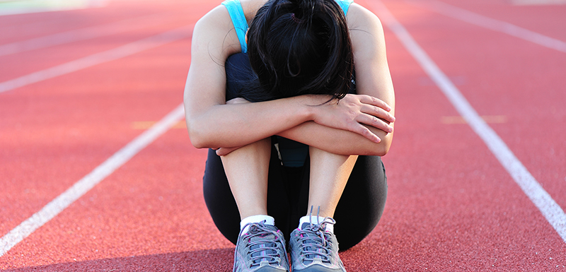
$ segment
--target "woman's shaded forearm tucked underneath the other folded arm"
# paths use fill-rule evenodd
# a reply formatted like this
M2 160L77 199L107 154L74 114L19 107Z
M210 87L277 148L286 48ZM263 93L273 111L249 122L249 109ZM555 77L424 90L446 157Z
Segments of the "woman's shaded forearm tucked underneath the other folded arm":
M381 138L379 143L369 141L364 136L351 131L334 129L315 122L299 124L278 135L340 155L386 155L393 140L393 132L386 133L381 129L367 127Z

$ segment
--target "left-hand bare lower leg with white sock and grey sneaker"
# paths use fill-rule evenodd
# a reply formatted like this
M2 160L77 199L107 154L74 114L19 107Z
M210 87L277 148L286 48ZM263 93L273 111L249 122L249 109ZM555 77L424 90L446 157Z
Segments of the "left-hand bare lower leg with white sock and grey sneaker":
M242 220L267 215L270 157L271 138L265 138L221 158ZM244 220L236 242L233 271L289 271L284 235L270 219Z

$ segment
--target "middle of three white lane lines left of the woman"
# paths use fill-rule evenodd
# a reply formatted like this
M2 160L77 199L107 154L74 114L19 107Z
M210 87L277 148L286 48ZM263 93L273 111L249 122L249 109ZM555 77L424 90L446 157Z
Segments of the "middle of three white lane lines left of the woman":
M99 52L92 54L81 59L76 59L74 61L69 61L65 64L54 66L42 71L37 71L35 73L30 73L19 78L14 78L10 81L4 81L0 83L0 93L4 93L8 90L13 90L16 88L23 87L25 85L30 85L32 83L37 83L40 81L45 81L50 78L57 76L62 76L67 73L72 73L74 71L79 71L81 69L86 69L97 64L102 64L104 62L113 61L115 59L121 59L123 57L130 56L142 52L147 49L158 47L160 45L165 45L169 42L174 42L176 40L181 40L192 35L192 28L195 25L186 25L182 28L176 28L167 32L163 32L158 35L147 37L136 42L129 43L127 45L122 45L108 51Z

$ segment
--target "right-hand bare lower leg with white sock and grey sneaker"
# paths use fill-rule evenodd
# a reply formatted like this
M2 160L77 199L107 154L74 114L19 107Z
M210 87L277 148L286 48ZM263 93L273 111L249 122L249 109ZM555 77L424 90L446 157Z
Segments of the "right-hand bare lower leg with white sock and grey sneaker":
M308 207L320 208L316 214L324 217L313 220L306 216L299 228L291 233L291 270L300 272L345 272L338 255L338 242L333 233L335 209L350 173L356 155L337 155L309 148L310 182ZM309 215L310 211L307 213ZM314 215L314 214L312 214ZM311 216L312 216L311 215ZM308 220L308 222L305 221Z

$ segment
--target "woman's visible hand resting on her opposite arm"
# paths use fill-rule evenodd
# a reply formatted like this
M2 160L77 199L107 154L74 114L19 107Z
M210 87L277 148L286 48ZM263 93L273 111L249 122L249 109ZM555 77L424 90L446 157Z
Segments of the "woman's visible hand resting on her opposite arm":
M389 113L391 107L370 95L348 94L341 100L318 105L316 109L313 121L317 124L352 131L375 143L381 142L381 139L364 124L386 133L393 132L389 125L395 122L395 117Z

